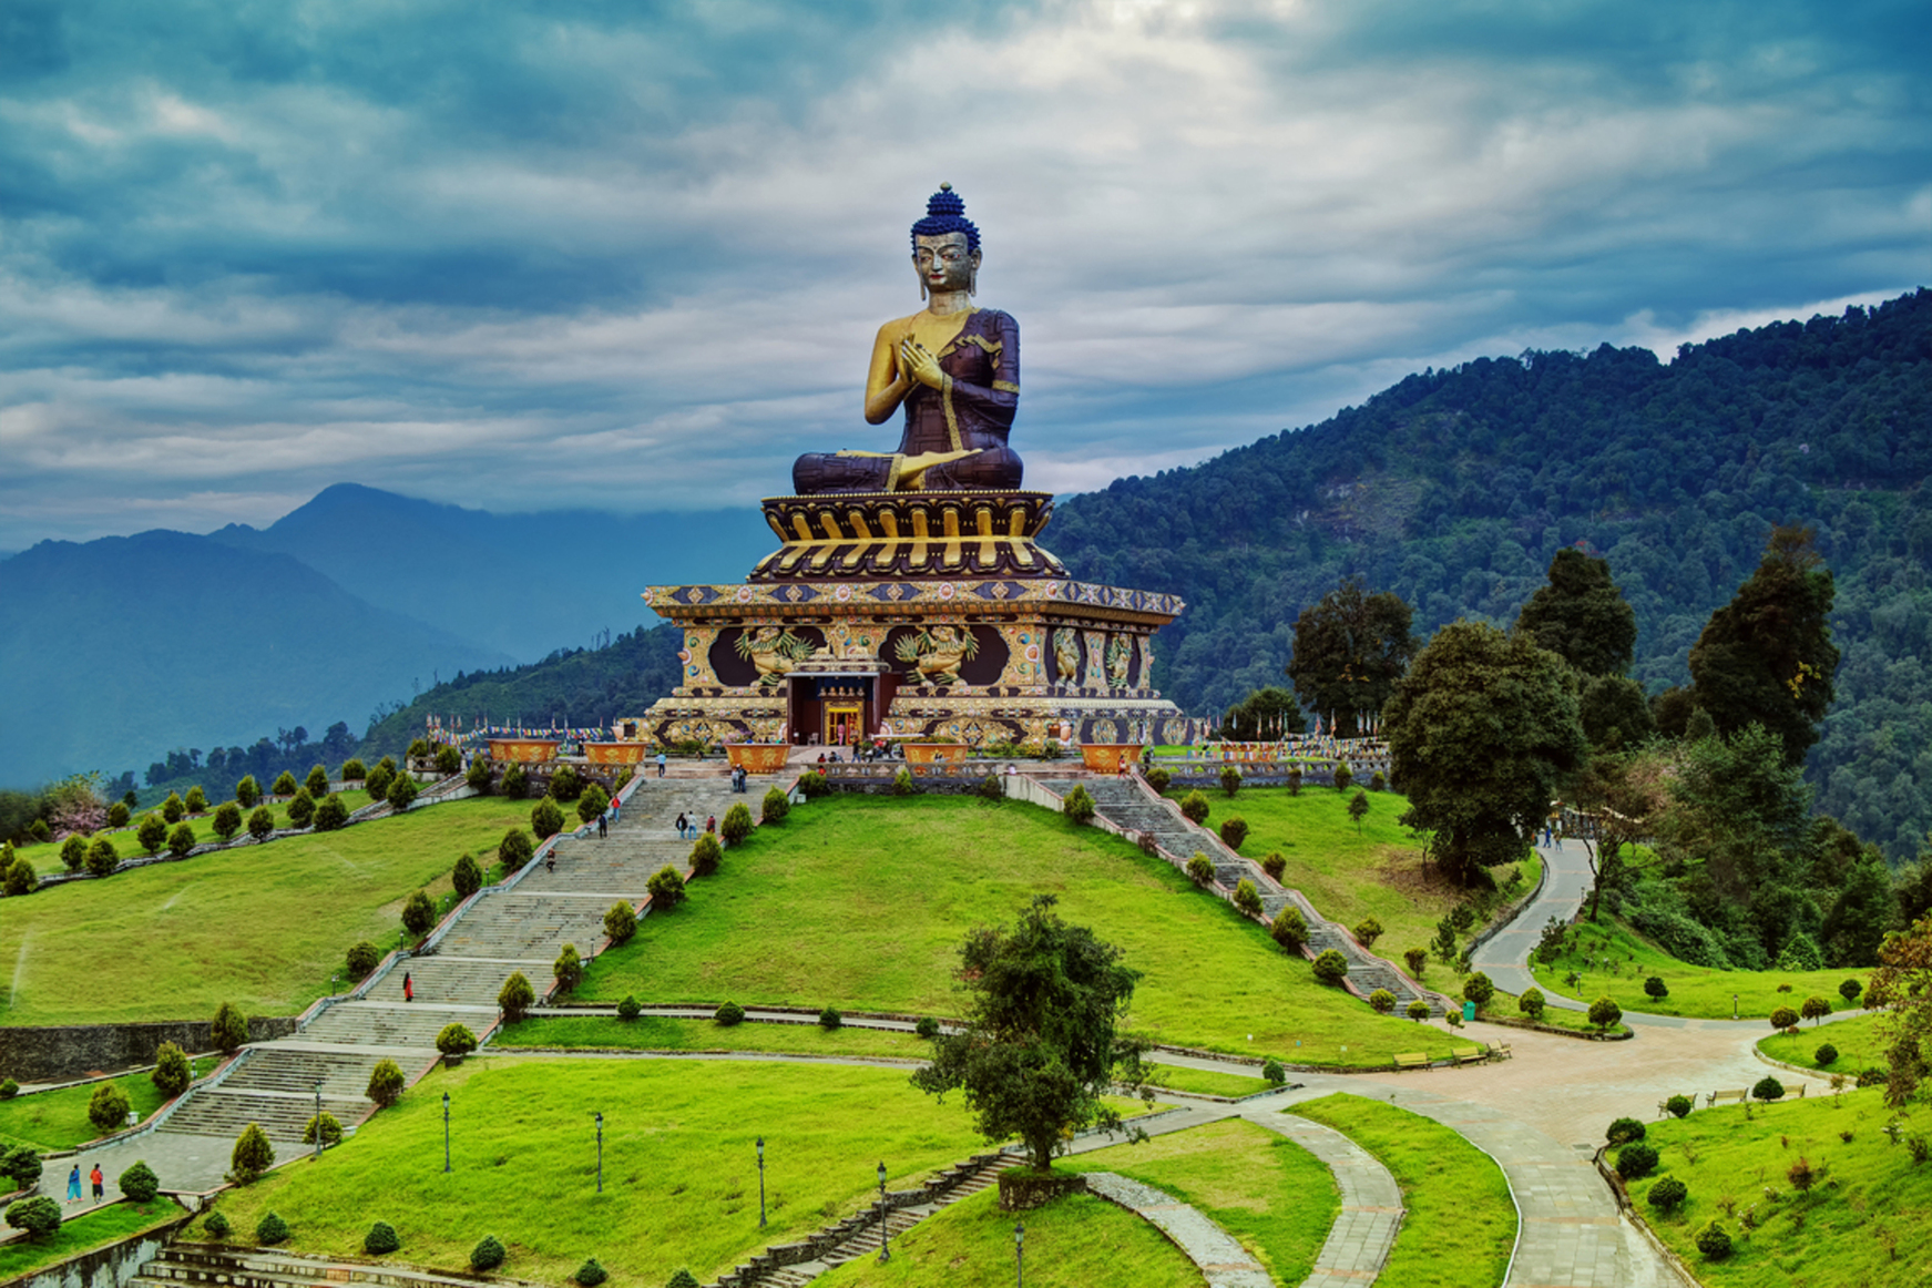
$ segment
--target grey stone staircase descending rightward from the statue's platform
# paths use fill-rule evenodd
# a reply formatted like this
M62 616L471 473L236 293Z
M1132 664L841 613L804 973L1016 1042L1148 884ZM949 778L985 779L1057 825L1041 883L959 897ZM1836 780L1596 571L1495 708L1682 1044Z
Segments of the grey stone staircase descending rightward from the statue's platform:
M1269 921L1283 908L1294 904L1308 923L1310 956L1335 948L1349 958L1349 985L1364 998L1376 989L1387 989L1395 994L1397 1014L1406 1012L1408 1004L1418 998L1428 1002L1432 1016L1443 1014L1445 1002L1441 996L1418 987L1393 964L1362 948L1354 935L1318 913L1300 890L1281 886L1262 871L1260 863L1240 857L1221 844L1219 836L1188 823L1179 809L1153 796L1138 778L1066 778L1045 782L1043 786L1066 796L1076 782L1094 798L1095 813L1109 823L1130 832L1151 834L1161 850L1182 861L1194 854L1206 854L1213 863L1215 884L1233 890L1240 881L1252 881L1254 888L1262 894L1262 915Z

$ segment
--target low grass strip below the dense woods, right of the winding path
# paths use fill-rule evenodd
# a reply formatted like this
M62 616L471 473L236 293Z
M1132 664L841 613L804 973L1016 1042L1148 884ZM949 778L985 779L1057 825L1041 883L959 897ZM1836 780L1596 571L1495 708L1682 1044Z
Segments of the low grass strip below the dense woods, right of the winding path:
M1594 1002L1607 993L1623 1010L1654 1016L1729 1020L1733 994L1737 1014L1745 1020L1764 1020L1779 1006L1797 1010L1808 996L1822 996L1833 1010L1843 1010L1851 1002L1837 994L1837 987L1847 979L1864 983L1870 975L1861 969L1719 971L1687 966L1609 913L1604 913L1600 925L1584 923L1580 933L1571 935L1571 952L1549 966L1530 962L1544 993L1561 993L1580 1002ZM1582 975L1582 985L1563 983L1571 971ZM1669 996L1654 998L1644 993L1644 981L1652 975L1663 979ZM1789 991L1779 993L1785 985Z

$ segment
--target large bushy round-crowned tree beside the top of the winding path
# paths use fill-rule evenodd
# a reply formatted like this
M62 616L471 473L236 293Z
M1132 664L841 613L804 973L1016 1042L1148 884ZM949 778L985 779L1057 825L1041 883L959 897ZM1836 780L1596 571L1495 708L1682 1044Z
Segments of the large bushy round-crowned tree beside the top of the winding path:
M1513 863L1559 784L1588 755L1577 695L1555 653L1522 631L1457 620L1435 631L1385 709L1406 826L1464 884Z

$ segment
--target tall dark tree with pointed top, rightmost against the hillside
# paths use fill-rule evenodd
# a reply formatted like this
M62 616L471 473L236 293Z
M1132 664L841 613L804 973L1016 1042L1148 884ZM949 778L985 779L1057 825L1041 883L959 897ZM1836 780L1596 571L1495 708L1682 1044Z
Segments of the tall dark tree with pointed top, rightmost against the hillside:
M1719 734L1762 724L1783 740L1787 765L1818 742L1832 705L1832 570L1812 548L1812 529L1776 527L1758 570L1731 602L1710 614L1690 649L1696 705Z

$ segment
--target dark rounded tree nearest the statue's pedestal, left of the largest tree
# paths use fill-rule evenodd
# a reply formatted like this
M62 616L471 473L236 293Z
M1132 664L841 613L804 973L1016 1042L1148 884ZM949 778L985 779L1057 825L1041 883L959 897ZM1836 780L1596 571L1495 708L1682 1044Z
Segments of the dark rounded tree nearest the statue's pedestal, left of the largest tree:
M1347 577L1294 620L1289 680L1316 718L1335 720L1352 738L1360 716L1381 711L1395 682L1408 670L1420 641L1414 614L1393 591L1368 593L1362 577Z

